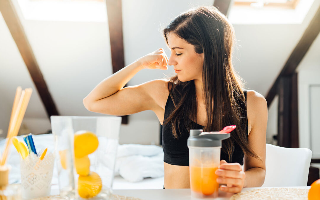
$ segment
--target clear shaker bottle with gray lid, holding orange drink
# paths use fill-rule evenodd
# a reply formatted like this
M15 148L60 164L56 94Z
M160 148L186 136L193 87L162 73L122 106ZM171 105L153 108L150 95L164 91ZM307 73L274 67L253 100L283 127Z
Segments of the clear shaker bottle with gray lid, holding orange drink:
M190 130L188 138L191 196L218 197L219 183L215 171L220 164L221 140L230 133Z

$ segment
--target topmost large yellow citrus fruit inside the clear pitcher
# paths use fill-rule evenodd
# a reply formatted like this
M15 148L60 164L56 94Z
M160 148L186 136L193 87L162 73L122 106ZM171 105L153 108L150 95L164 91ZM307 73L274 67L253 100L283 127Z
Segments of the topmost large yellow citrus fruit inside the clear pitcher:
M99 140L93 132L80 131L81 134L75 134L75 156L76 158L82 158L93 153L99 145Z

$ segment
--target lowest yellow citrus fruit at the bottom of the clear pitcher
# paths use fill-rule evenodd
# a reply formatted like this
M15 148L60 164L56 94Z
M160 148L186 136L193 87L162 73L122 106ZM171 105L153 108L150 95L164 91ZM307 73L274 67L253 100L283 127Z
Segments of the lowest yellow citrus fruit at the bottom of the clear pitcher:
M78 194L82 198L97 196L102 188L102 180L96 172L90 172L88 176L79 176Z

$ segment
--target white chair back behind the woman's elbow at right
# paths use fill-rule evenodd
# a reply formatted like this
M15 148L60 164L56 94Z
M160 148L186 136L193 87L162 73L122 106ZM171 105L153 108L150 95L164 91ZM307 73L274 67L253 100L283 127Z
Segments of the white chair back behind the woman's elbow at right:
M266 178L261 187L307 186L312 151L266 146Z

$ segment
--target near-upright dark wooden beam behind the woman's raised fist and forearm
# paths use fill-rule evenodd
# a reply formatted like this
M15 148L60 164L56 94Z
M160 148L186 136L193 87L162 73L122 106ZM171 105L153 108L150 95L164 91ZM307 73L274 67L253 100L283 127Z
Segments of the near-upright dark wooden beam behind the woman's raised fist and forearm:
M122 6L121 0L106 0L111 59L113 73L124 68L124 46L122 32ZM121 116L122 124L128 124L128 116Z

